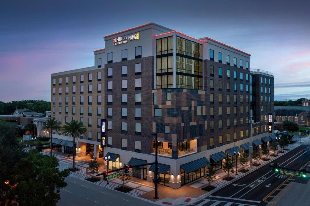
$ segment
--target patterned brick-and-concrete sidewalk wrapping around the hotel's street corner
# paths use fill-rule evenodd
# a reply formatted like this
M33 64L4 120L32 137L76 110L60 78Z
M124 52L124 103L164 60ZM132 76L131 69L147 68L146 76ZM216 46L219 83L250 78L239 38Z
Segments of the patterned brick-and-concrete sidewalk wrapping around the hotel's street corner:
M310 138L310 135L305 138L302 138L301 144L304 144L306 142L310 143L309 138ZM298 138L298 141L297 139L294 139L294 140L296 142L294 142L294 144L290 144L287 147L287 149L292 150L300 145L299 138ZM49 155L50 150L45 149L43 152ZM286 151L284 153L279 153L277 157L280 157L283 154L286 154L287 152L289 151ZM273 152L271 152L271 154L272 153ZM58 152L55 150L53 150L53 154L55 154L55 156L57 157L59 161L63 161L68 164L66 168L72 167L72 157L65 157L64 153ZM268 156L268 158L270 159L269 161L263 161L260 159L257 161L257 163L260 165L265 165L277 157ZM78 177L78 178L82 178L82 179L90 178L91 174L87 170L89 166L88 163L91 160L90 157L89 156L76 157L75 160L76 160L75 165L78 169L80 169L80 171L77 171L77 172L70 171L70 175ZM101 165L100 166L100 171L101 171L104 169L104 160L100 159L99 161ZM255 160L253 160L253 163L255 163ZM230 173L229 174L230 177L239 178L249 173L250 170L254 170L255 168L257 168L256 166L253 165L253 168L250 169L250 161L248 161L248 165L244 167L244 169L249 170L246 173L239 172L239 170L242 169L241 165L238 164L237 167L238 167L238 175L236 175L236 167L234 167L234 173ZM215 174L215 176L216 176L216 180L211 183L212 186L219 188L219 187L224 186L225 184L228 184L229 181L223 180L223 178L228 176L227 173L224 173L223 171L219 171L217 174ZM114 178L109 181L108 185L106 181L102 181L102 180L95 182L95 184L100 185L101 187L107 187L109 189L114 189L116 187L120 187L122 185L122 182L121 180ZM153 198L154 193L155 193L155 187L154 187L153 182L148 182L146 180L131 177L131 180L125 181L124 185L133 188L132 191L127 192L126 194L140 197L148 201L153 201L161 205L175 205L175 204L187 204L189 202L193 202L198 197L206 194L207 192L204 190L201 190L201 188L208 186L209 182L205 178L200 178L199 180L194 181L191 184L188 184L178 189L173 189L173 188L158 184L158 196L159 196L158 200L155 200Z

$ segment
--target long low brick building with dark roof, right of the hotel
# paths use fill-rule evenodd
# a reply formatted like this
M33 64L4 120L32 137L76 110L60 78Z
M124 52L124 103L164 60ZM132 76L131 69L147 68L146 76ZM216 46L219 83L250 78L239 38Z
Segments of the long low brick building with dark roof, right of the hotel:
M274 122L289 120L296 122L299 126L310 125L310 106L275 106Z

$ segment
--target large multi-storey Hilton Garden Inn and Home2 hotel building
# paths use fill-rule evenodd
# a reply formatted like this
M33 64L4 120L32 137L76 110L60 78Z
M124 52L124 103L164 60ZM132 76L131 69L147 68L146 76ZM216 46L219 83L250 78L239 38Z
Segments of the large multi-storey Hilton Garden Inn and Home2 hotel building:
M77 155L103 150L110 170L153 162L157 133L161 184L179 188L203 177L207 165L221 170L225 157L235 162L235 151L248 153L251 109L253 146L272 142L273 75L250 69L250 54L154 23L104 40L93 67L51 75L51 115L88 126ZM100 119L107 125L104 148ZM148 181L154 171L154 165L130 169Z

